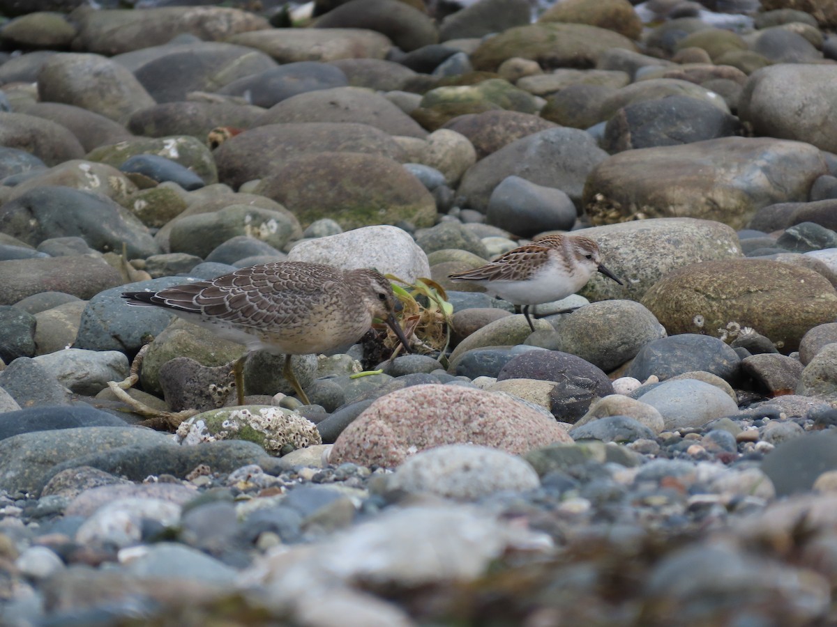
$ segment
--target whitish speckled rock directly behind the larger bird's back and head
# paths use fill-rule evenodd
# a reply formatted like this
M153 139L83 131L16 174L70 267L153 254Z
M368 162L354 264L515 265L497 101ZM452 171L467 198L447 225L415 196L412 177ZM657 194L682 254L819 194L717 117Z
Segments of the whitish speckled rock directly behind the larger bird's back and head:
M327 263L346 269L375 268L408 283L430 276L427 254L413 237L386 224L303 240L288 252L288 261Z

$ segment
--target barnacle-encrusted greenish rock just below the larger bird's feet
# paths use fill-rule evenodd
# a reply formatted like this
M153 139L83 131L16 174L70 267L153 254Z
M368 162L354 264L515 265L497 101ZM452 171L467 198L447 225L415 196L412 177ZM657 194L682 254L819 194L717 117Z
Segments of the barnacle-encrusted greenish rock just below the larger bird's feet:
M271 455L278 455L287 444L294 448L322 444L320 432L313 422L291 410L272 405L204 411L183 421L175 437L189 446L218 440L247 440L263 446Z

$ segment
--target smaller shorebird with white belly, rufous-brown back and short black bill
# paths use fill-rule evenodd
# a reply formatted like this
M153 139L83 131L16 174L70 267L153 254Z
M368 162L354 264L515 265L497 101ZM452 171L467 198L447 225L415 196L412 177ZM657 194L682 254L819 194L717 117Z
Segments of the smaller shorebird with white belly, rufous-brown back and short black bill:
M600 272L623 283L602 265L598 244L580 235L547 235L497 257L493 262L464 273L449 275L451 281L471 281L485 291L516 305L534 332L529 305L567 298Z

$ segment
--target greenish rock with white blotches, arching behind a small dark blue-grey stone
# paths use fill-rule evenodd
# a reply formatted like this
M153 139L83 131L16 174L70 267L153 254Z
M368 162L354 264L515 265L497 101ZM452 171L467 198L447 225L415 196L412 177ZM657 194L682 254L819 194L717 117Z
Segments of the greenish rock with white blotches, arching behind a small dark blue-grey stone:
M203 179L207 185L218 182L218 169L212 152L201 140L191 135L170 137L136 137L118 144L103 145L85 157L118 168L134 155L157 155L176 161Z

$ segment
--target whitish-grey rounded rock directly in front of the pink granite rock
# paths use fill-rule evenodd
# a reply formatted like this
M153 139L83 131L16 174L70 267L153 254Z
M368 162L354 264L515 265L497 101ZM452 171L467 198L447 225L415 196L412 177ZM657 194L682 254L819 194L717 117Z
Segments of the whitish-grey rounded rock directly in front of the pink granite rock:
M487 446L452 444L416 453L393 474L389 486L411 493L475 501L494 492L533 490L541 482L520 457Z

